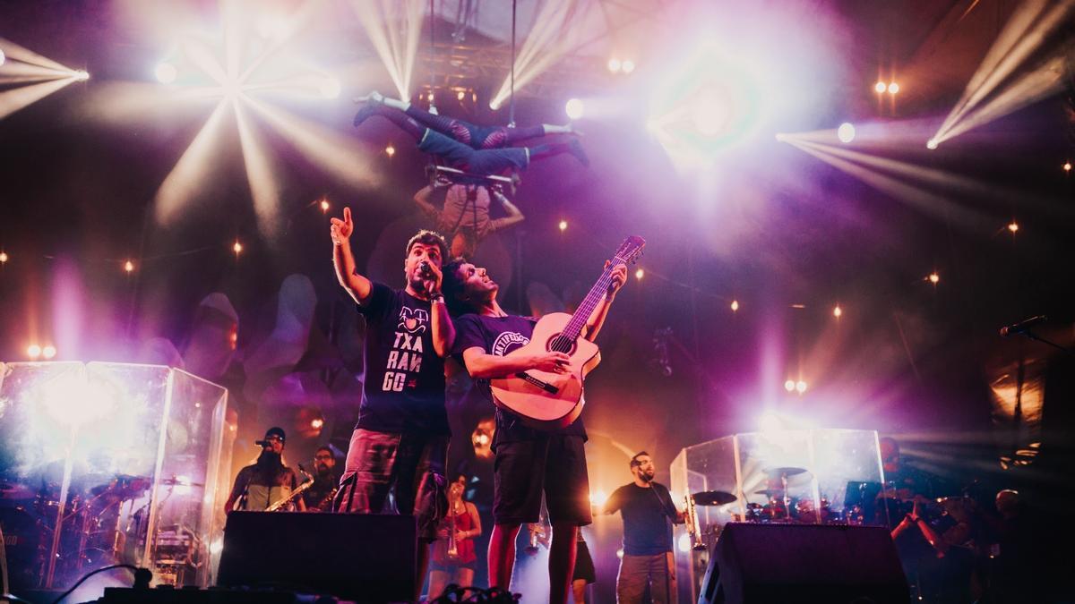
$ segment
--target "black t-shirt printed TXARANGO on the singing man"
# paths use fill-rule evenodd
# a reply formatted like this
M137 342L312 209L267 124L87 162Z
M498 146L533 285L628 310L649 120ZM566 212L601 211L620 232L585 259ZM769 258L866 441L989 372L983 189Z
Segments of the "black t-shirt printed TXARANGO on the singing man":
M366 382L356 428L449 434L429 301L375 283L358 308L366 316Z

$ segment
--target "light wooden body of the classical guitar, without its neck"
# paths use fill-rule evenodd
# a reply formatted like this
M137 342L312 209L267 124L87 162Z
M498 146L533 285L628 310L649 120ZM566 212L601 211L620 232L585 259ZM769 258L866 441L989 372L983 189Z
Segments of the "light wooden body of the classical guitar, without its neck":
M547 353L571 318L567 313L545 315L534 326L530 343L507 356ZM489 380L493 402L518 415L532 428L555 430L570 426L583 413L583 379L601 362L601 355L597 344L579 337L568 356L571 361L567 373L529 370L525 374Z

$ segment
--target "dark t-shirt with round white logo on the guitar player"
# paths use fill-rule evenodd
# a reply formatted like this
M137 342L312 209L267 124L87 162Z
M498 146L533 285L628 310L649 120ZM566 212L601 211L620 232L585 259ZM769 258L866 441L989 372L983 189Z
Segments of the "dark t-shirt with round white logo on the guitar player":
M508 315L506 317L487 317L484 315L463 315L455 320L456 343L452 354L463 363L462 354L475 346L483 348L489 355L503 357L508 353L530 343L536 321L529 317ZM465 363L463 363L465 365ZM474 380L487 401L492 402L489 383L485 379ZM570 426L556 430L538 430L522 423L522 419L512 412L497 407L497 432L492 437L492 449L501 443L517 443L536 441L548 434L568 434L586 438L586 427L582 416Z

